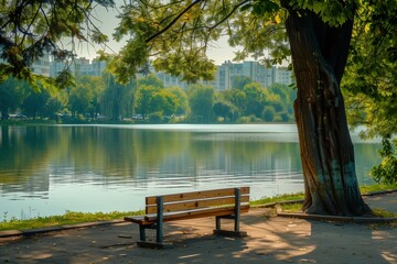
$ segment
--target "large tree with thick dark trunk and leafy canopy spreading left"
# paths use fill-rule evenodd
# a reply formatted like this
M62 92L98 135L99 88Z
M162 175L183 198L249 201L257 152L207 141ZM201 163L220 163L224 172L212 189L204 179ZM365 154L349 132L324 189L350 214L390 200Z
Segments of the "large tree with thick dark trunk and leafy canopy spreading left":
M311 213L365 215L371 209L358 189L341 80L354 16L358 11L371 10L376 2L133 1L122 8L116 31L119 38L131 37L117 57L118 70L133 75L137 66L154 56L172 63L172 67L161 63L158 68L183 75L180 67L184 64L175 64L175 58L207 62L205 52L211 41L222 35L229 36L230 45L243 47L237 59L251 55L277 63L290 55L298 86L294 113L305 186L304 209ZM201 67L194 76L207 77Z

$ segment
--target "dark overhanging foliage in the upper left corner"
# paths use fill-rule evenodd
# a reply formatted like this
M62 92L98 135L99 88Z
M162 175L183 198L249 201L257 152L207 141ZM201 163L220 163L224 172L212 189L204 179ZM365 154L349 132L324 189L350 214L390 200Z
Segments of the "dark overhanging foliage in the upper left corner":
M81 43L104 44L108 37L96 26L93 10L114 7L112 0L1 0L0 77L25 79L39 89L69 87L73 78L66 67L55 78L33 75L31 65L43 56L69 61Z

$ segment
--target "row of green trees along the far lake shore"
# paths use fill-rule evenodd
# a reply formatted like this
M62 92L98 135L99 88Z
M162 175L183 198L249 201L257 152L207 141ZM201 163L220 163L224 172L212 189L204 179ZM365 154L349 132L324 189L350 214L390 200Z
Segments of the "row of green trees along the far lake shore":
M261 87L249 77L236 77L232 89L192 84L186 89L164 87L154 75L119 84L101 77L76 76L67 89L53 90L9 78L0 84L1 119L69 122L249 123L292 122L293 87Z

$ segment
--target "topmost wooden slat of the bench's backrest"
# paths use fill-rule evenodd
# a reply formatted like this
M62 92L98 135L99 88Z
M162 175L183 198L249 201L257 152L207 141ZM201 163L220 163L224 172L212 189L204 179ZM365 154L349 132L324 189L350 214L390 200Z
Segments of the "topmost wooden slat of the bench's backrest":
M240 194L249 195L249 187L242 187ZM204 199L204 198L213 198L213 197L222 197L222 196L234 196L235 188L228 189L215 189L215 190L202 190L202 191L192 191L192 193L184 193L184 194L174 194L174 195L164 195L163 201L171 202L171 201L181 201L181 200L195 200L195 199ZM147 205L155 205L157 197L150 196L146 198Z

